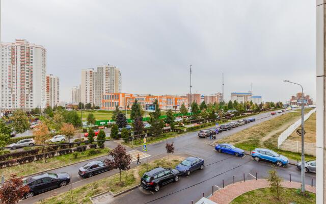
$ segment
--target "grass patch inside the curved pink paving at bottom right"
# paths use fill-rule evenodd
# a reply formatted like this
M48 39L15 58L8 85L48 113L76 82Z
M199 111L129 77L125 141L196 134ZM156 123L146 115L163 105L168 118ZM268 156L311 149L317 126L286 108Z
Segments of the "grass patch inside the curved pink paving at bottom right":
M292 188L283 188L282 195L280 200L275 197L274 193L269 191L269 188L260 188L253 191L244 193L235 199L233 199L230 204L288 204L288 203L297 203L297 204L313 204L316 203L316 194L307 192L309 196L302 196L296 193L297 189Z

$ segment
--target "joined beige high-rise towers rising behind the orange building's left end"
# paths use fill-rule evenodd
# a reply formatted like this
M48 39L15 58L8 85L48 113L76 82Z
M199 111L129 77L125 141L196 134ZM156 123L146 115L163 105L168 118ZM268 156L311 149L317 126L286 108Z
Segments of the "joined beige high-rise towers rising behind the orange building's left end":
M80 101L101 106L103 93L121 93L121 72L116 66L104 64L97 70L82 70Z

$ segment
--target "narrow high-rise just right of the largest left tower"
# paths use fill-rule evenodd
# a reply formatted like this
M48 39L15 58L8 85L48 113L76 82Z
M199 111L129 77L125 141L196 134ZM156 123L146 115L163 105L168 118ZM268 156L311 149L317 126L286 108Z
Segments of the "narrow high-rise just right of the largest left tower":
M59 78L53 74L46 74L46 106L56 106L59 104Z

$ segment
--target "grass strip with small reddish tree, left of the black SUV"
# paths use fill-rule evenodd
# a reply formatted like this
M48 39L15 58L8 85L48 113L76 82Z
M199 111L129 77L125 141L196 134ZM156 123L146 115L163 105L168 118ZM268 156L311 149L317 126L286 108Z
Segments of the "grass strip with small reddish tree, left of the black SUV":
M182 157L170 156L170 164L168 158L162 158L148 163L148 169L155 168L157 166L174 168L183 160ZM73 203L92 203L89 199L91 196L111 190L114 193L118 193L129 189L133 186L140 184L140 178L143 173L147 171L146 164L139 165L130 170L123 171L121 173L122 184L120 184L119 173L112 176L108 176L104 179L96 182L80 186L72 190L73 201L71 201L71 192L64 192L56 196L46 198L37 202L38 204L73 204Z

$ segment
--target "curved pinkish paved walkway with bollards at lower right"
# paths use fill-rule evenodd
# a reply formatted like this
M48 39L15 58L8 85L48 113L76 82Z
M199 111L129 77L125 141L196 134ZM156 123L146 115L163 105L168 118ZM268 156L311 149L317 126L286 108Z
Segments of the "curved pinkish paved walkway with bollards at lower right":
M228 204L234 198L238 197L243 193L259 188L266 188L268 186L269 184L267 180L264 179L258 179L257 181L248 180L246 182L237 182L234 185L230 184L225 188L215 191L214 195L209 197L209 199L218 204ZM301 183L284 181L282 183L282 186L285 188L301 188ZM316 187L311 187L309 185L306 185L306 191L316 193Z

